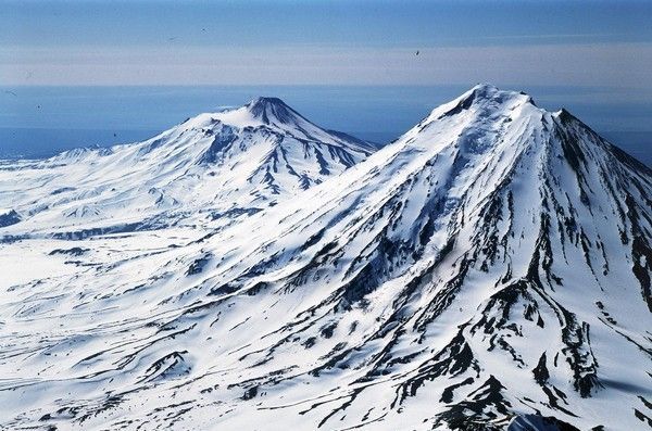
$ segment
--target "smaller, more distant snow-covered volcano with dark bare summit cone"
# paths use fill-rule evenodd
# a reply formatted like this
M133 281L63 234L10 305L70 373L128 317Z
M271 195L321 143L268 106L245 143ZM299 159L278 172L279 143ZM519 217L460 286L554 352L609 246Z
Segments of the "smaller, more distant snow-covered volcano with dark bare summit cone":
M279 99L258 98L143 142L2 164L0 202L15 214L4 234L80 238L223 225L340 174L374 150L315 126Z

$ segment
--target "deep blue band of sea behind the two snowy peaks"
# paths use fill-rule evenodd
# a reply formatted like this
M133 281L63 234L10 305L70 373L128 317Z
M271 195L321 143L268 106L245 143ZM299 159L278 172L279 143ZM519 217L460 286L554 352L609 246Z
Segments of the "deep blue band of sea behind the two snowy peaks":
M469 86L0 87L0 159L136 142L202 112L274 96L325 128L388 143ZM652 98L618 88L504 87L564 106L652 166Z

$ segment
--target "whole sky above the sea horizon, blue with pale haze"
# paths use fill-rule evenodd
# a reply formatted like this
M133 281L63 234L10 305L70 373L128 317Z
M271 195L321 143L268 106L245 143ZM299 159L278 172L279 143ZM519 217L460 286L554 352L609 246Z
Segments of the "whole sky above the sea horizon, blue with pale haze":
M651 1L3 1L0 83L491 81L649 97L651 22Z

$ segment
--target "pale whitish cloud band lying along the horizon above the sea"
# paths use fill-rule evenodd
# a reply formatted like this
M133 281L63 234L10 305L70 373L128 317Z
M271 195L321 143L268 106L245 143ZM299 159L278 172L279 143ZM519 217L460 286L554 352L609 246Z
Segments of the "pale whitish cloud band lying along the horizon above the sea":
M4 85L502 85L650 90L652 43L406 49L150 48L0 51Z

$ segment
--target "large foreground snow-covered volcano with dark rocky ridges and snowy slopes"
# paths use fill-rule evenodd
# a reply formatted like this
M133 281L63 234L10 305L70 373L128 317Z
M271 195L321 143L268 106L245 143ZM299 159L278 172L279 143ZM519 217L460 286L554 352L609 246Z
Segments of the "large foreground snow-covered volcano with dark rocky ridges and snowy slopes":
M283 205L139 238L0 250L47 267L0 295L5 427L652 426L652 172L527 94L477 86Z

